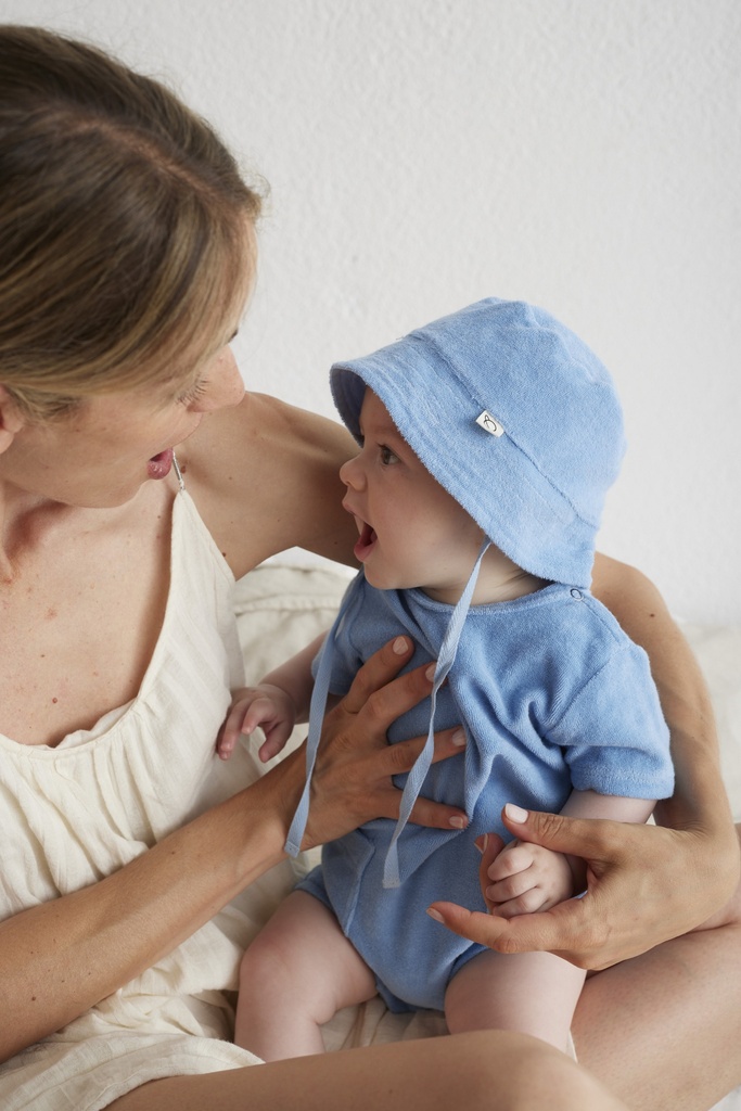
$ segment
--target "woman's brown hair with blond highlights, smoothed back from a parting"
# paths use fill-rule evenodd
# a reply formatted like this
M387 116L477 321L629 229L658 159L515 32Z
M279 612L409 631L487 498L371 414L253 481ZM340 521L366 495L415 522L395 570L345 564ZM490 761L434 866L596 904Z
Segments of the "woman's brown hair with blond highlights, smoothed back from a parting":
M49 419L182 379L244 293L260 204L213 129L158 81L0 27L0 383Z

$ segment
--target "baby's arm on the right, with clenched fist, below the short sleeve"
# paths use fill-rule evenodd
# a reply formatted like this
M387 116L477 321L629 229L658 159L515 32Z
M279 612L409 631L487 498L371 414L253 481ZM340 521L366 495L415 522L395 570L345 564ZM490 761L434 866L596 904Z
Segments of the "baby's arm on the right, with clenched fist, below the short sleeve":
M629 799L597 791L572 791L562 814L571 818L608 818L643 823L655 800ZM493 880L487 898L501 918L549 910L584 890L587 867L579 857L567 857L527 841L511 841L489 869Z

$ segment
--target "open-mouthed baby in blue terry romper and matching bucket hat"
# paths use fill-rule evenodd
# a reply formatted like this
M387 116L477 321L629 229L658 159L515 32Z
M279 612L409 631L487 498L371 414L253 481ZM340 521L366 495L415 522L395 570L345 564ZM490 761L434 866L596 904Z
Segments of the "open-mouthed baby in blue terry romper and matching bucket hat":
M342 467L363 564L321 648L237 697L220 751L262 727L268 759L310 708L298 852L328 697L395 634L437 661L429 701L389 742L428 734L398 822L324 847L322 863L247 950L236 1040L264 1060L322 1052L320 1027L381 994L443 1010L451 1032L510 1029L562 1050L584 973L552 953L504 955L448 931L433 900L485 910L474 840L511 835L504 803L643 822L669 795L669 737L648 659L589 592L604 494L623 453L620 406L594 354L541 309L490 298L374 354L336 364L360 452ZM444 681L444 685L443 685ZM312 690L313 688L313 690ZM432 763L433 729L461 753ZM420 793L468 825L409 823ZM464 824L464 823L461 823ZM492 901L505 917L583 890L582 862L509 840Z

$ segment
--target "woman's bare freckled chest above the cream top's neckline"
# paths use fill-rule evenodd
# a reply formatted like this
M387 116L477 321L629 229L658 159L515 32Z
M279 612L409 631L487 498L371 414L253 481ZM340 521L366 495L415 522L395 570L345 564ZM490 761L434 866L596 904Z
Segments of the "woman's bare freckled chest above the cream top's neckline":
M64 530L0 591L0 732L57 744L136 697L164 615L170 536L158 518Z

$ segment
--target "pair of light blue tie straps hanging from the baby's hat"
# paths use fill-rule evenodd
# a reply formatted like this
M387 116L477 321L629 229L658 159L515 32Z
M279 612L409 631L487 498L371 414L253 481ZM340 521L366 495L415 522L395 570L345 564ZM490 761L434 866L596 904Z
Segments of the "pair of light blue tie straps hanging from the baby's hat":
M399 850L397 848L397 842L399 835L403 830L404 825L409 821L412 809L417 799L419 797L424 777L430 770L432 763L432 757L434 754L434 711L438 700L438 691L445 681L445 677L450 671L453 661L455 659L455 652L458 651L458 642L463 630L463 622L468 614L469 608L471 605L471 599L473 598L473 591L475 589L477 580L479 578L479 571L481 569L481 561L490 547L491 541L484 539L481 550L477 557L477 561L473 564L473 570L469 575L469 580L463 588L463 593L459 598L453 612L451 613L450 621L448 622L448 628L445 630L445 635L442 639L442 644L440 645L440 652L438 654L438 662L434 669L434 677L432 680L432 693L430 695L430 724L428 729L427 740L424 747L417 760L414 761L411 771L407 778L404 789L401 795L401 804L399 807L399 819L397 821L395 829L391 837L391 842L385 855L385 861L383 863L383 887L384 888L398 888L401 883L401 878L399 874ZM317 679L314 681L314 689L311 694L311 711L309 718L309 737L307 739L307 779L303 787L303 793L296 808L296 813L293 814L293 820L291 822L291 828L288 831L288 838L286 839L286 852L291 857L298 855L301 851L301 841L303 840L303 834L307 828L307 821L309 819L309 793L311 785L311 775L314 770L314 763L317 761L317 752L319 750L319 742L321 739L321 727L324 720L324 709L327 705L327 695L329 692L329 682L332 673L332 659L334 655L334 634L338 628L338 622L343 620L343 614L340 613L338 619L330 630L327 640L324 642L322 653L319 660L319 670L317 672Z

